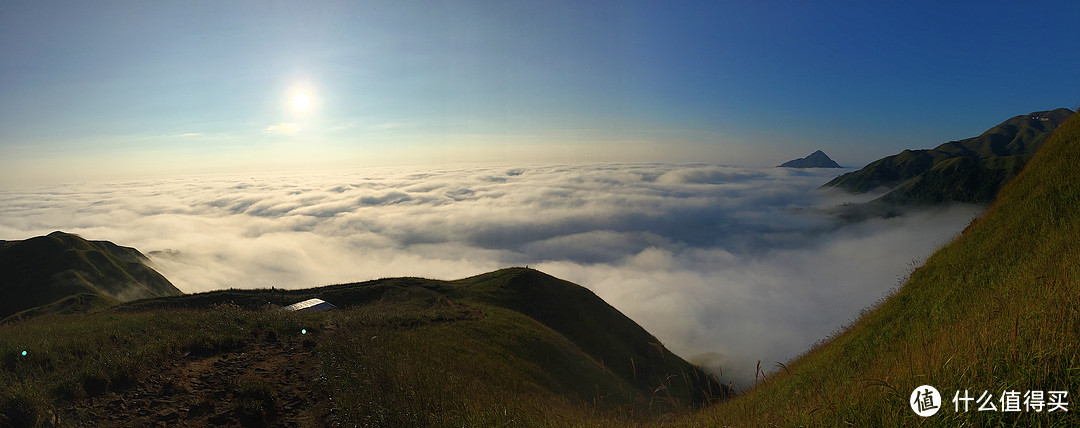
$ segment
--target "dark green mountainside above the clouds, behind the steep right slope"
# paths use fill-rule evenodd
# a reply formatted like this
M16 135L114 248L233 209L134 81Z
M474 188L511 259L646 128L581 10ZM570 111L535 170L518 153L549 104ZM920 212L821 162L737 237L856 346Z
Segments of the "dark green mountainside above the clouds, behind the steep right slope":
M890 203L989 202L1071 115L1058 108L1016 116L980 136L933 149L904 150L822 187L856 193L890 188L881 197Z

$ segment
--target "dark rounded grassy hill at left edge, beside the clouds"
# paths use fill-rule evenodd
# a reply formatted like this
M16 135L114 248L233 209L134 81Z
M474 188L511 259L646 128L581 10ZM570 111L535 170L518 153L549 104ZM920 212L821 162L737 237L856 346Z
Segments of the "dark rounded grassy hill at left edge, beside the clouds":
M145 262L135 249L59 231L0 241L0 319L44 305L33 312L181 294Z

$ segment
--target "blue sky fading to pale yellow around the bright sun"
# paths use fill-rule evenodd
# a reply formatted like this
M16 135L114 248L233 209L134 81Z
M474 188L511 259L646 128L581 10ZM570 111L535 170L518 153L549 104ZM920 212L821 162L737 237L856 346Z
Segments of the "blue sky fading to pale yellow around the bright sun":
M581 3L5 2L0 183L860 166L1080 104L1077 2Z

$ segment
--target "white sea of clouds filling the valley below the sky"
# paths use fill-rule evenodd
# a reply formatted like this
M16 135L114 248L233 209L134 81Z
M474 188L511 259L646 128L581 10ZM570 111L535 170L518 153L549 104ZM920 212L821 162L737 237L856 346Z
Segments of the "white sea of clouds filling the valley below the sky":
M369 169L0 190L0 239L64 230L150 254L180 290L458 279L582 284L745 386L886 295L982 208L846 224L849 170L686 164Z

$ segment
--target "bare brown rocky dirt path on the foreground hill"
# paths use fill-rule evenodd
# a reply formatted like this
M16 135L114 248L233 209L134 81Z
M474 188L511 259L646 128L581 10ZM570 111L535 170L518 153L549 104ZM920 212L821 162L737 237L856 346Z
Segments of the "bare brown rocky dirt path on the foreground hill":
M231 352L185 357L120 392L62 410L60 426L322 426L312 384L312 342L247 344Z

